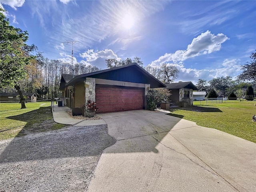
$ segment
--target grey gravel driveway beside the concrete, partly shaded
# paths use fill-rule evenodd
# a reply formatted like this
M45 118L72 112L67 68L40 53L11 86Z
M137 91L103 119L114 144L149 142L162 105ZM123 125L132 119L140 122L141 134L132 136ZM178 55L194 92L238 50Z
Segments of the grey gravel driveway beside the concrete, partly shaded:
M0 141L0 192L85 191L102 151L115 142L106 125Z

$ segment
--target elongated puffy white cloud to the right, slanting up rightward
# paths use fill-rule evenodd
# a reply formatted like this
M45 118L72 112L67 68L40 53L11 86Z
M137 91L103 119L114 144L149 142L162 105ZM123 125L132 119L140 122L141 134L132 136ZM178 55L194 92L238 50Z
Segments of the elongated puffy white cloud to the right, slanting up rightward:
M151 62L152 66L160 66L162 63L173 61L184 61L188 58L199 56L202 54L210 54L219 51L221 44L228 40L228 37L222 33L212 34L209 30L194 38L187 50L178 50L175 53L166 53L157 60Z

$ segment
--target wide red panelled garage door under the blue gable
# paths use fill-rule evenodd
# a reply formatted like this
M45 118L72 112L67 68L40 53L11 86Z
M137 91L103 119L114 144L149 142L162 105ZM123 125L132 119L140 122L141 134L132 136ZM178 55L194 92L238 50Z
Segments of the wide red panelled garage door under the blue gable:
M96 84L97 113L143 108L144 88Z

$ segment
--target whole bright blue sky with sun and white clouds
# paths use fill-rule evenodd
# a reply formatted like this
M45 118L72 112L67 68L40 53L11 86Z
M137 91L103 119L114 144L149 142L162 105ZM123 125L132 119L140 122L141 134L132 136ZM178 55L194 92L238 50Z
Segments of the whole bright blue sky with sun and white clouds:
M105 59L140 57L180 69L176 80L235 78L256 50L256 1L0 0L49 59L106 69Z

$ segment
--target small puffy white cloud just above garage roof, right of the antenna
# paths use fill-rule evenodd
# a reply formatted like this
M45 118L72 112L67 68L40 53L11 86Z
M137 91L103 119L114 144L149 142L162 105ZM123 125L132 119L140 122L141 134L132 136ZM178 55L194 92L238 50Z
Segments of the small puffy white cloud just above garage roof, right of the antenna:
M86 61L83 61L84 64L90 64L102 69L106 68L106 59L113 58L116 60L121 60L121 58L119 58L111 49L101 51L96 50L95 52L93 49L88 49L86 52L79 55L80 57L86 59Z

